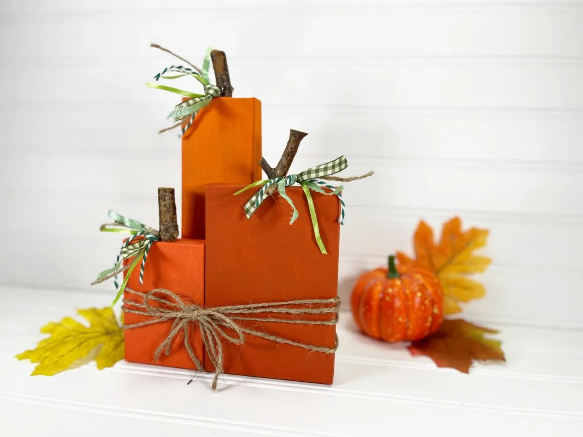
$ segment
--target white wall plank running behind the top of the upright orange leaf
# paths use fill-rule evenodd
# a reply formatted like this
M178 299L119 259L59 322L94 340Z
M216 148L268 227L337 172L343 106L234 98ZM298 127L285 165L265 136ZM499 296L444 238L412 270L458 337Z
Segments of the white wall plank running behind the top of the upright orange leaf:
M180 188L177 198L180 199ZM17 220L8 216L0 219L5 239L10 236L15 240L36 238L33 235L44 235L56 240L93 237L99 234L99 226L108 221L109 210L152 227L156 227L158 221L156 192L129 198L115 193L53 193L46 196L43 192L10 190L4 193L2 204L6 210L19 212ZM180 206L179 200L179 210ZM413 232L419 220L427 221L434 228L437 239L441 225L455 214L461 216L464 228L476 226L490 230L484 253L498 266L531 268L541 272L580 270L578 254L583 246L583 217L570 220L557 215L402 210L348 205L345 225L340 231L340 251L352 258L361 257L373 263L379 260L384 262L379 257L389 252L400 250L412 253ZM117 241L117 237L110 234L101 236Z

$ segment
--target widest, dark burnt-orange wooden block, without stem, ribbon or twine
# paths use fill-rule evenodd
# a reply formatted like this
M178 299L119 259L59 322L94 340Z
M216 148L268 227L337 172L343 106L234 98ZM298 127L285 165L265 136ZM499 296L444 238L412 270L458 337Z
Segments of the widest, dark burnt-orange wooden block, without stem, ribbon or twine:
M243 185L233 184L210 184L206 188L205 306L335 298L340 237L338 198L312 194L328 250L328 255L322 255L300 187L286 189L299 213L293 225L289 224L291 208L279 195L266 199L248 219L243 205L254 190L234 196L241 188ZM329 348L335 344L333 325L240 323L299 343ZM214 371L208 359L205 369ZM224 342L224 372L331 384L334 355L245 334L243 345Z

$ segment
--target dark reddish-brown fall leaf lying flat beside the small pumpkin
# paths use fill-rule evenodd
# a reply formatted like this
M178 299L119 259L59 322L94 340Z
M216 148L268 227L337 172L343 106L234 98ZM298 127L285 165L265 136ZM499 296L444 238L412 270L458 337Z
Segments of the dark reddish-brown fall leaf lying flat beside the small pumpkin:
M410 353L425 355L438 367L468 373L474 361L506 361L501 342L484 337L497 331L473 325L463 319L445 319L437 332L413 341Z

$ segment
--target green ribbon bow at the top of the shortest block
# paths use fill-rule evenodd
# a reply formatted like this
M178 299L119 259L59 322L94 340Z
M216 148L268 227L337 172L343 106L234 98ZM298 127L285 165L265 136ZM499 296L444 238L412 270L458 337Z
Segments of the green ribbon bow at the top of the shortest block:
M116 214L113 211L109 212L109 217L113 218L114 223L112 224L104 224L101 226L101 232L121 232L124 234L131 234L121 246L120 255L117 256L117 260L115 265L111 267L111 269L103 270L97 275L97 280L92 283L99 284L111 277L114 278L114 285L115 288L118 290L117 296L115 296L114 301L111 305L115 305L115 303L120 299L122 293L124 292L125 286L128 283L129 277L131 276L132 272L134 271L135 267L138 263L141 262L140 267L140 284L143 284L143 277L144 277L144 269L146 267L146 259L147 254L150 251L152 243L154 241L158 241L159 235L158 231L152 228L146 227L145 224L140 223L139 221L132 220L131 218L126 218L121 214ZM142 239L136 238L143 237ZM123 262L127 258L135 258L134 261L129 266L124 266ZM117 275L124 270L128 270L128 273L125 275L124 281L121 283L121 287L117 281Z

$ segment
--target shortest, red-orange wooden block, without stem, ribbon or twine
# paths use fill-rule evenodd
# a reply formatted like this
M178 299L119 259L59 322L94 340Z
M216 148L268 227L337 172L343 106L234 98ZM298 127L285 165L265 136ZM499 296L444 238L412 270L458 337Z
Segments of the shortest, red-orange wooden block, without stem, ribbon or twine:
M128 262L131 260L128 260ZM177 239L173 242L154 242L147 256L143 284L139 284L139 266L129 278L128 287L147 292L154 288L166 288L182 299L190 299L204 305L205 298L205 242L201 240ZM134 294L124 292L125 299L136 299ZM186 302L186 301L185 301ZM124 323L143 322L148 316L124 313ZM135 327L125 331L125 360L143 364L194 369L195 365L184 347L184 336L180 333L174 340L170 355L161 354L154 360L154 352L166 339L172 320L153 325ZM189 327L189 337L196 357L202 362L204 346L197 326Z

